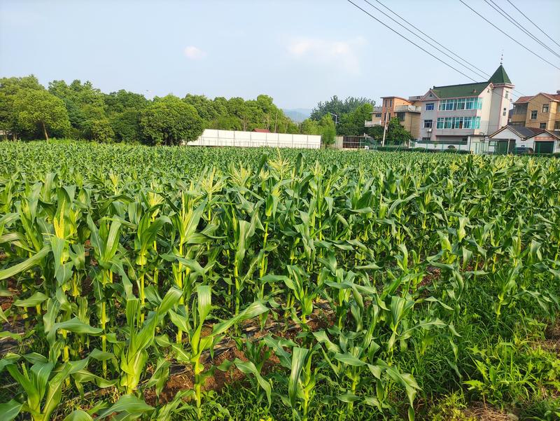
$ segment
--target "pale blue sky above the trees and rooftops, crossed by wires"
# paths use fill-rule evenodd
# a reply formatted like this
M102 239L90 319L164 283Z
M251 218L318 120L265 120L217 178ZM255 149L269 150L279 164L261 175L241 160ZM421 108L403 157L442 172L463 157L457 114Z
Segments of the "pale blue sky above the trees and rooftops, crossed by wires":
M396 27L363 0L353 1ZM519 92L560 90L560 70L458 0L382 1L486 73L498 67L503 51L504 67ZM507 1L494 1L560 54L560 47ZM465 2L560 67L559 57L488 4ZM560 1L512 2L560 43ZM412 38L405 29L398 32ZM45 85L77 78L104 92L124 88L148 97L266 93L284 108L312 108L331 95L379 102L381 96L421 95L433 85L470 82L346 0L0 0L0 76L27 74Z

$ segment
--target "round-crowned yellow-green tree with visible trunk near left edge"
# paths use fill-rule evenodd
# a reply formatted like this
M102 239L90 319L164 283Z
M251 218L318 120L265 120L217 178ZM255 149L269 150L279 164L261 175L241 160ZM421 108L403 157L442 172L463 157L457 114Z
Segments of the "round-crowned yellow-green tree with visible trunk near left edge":
M68 112L62 99L46 90L23 89L14 98L18 125L29 132L40 128L48 142L48 131L67 132L70 128Z

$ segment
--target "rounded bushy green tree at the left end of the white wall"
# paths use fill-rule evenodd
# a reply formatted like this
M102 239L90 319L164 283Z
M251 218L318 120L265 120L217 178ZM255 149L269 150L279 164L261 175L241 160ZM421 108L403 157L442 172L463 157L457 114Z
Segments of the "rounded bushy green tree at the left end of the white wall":
M142 112L140 126L146 139L155 145L189 142L204 131L203 120L195 107L174 95L155 99Z

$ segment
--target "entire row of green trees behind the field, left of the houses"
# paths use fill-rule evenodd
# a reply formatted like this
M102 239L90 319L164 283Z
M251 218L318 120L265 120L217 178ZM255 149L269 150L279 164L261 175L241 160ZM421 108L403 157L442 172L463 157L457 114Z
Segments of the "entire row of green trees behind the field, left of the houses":
M268 95L248 100L191 94L146 99L127 90L106 94L89 81L52 81L45 88L31 75L0 78L0 134L10 139L68 137L173 145L197 139L206 128L260 128L318 134L323 144L332 144L337 134L379 138L379 127L364 127L364 121L371 119L374 104L367 98L348 97L343 101L334 96L319 102L311 116L297 124ZM400 127L398 122L396 125ZM391 130L390 125L389 132L393 134L398 127Z

